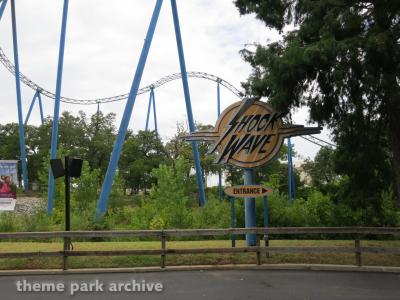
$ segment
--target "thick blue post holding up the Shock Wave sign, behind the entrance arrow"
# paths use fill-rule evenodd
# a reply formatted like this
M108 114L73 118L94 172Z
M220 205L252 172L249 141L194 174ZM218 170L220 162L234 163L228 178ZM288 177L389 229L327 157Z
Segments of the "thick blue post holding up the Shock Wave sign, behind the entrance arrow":
M244 169L244 184L254 184L254 169ZM245 207L245 227L256 227L256 199L251 197L244 198ZM246 234L247 246L256 246L256 235Z

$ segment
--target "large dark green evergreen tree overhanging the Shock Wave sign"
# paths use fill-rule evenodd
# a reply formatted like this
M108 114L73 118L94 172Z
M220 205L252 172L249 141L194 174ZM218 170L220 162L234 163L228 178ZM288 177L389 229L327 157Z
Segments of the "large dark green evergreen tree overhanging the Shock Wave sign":
M377 198L393 183L400 201L400 1L235 4L280 32L295 25L281 41L242 51L253 67L247 93L284 112L308 106L310 119L332 130L351 197Z

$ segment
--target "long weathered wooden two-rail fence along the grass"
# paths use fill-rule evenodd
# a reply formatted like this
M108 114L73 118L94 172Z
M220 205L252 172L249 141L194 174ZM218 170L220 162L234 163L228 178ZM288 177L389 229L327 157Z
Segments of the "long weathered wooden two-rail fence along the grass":
M256 246L226 248L167 248L167 241L174 237L236 236L244 234L256 235ZM354 247L270 247L271 235L299 234L335 234L351 235ZM360 240L366 235L400 236L400 227L269 227L269 228L229 228L229 229L188 229L188 230L131 230L131 231L59 231L59 232L17 232L0 233L1 240L16 239L51 239L63 238L64 250L53 252L3 252L0 258L27 257L63 257L63 268L68 269L68 257L73 256L123 256L123 255L160 255L161 268L166 266L166 256L171 254L206 254L206 253L255 253L257 265L262 263L261 255L269 253L353 253L357 266L362 265L362 253L400 254L400 247L362 247ZM156 238L161 242L160 249L75 251L69 245L74 238ZM260 241L265 241L261 245Z

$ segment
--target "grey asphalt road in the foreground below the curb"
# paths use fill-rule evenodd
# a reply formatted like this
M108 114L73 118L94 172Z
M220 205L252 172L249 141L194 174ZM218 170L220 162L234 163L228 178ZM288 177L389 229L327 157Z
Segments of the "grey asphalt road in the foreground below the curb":
M24 286L25 280L25 286ZM97 280L97 286L94 284ZM132 292L134 283L161 292ZM19 282L19 283L18 283ZM59 292L17 291L52 288ZM45 284L49 283L49 286ZM93 283L92 289L84 292ZM101 285L103 284L103 285ZM116 284L116 285L115 285ZM19 286L17 286L19 285ZM119 286L118 286L119 285ZM57 286L56 286L57 287ZM122 291L109 291L110 288ZM141 286L142 287L142 286ZM125 290L125 288L128 290ZM72 296L72 289L76 291ZM82 290L83 289L83 290ZM101 291L103 289L103 291ZM138 289L138 285L136 285ZM400 299L400 274L324 271L184 271L51 276L1 276L0 299Z

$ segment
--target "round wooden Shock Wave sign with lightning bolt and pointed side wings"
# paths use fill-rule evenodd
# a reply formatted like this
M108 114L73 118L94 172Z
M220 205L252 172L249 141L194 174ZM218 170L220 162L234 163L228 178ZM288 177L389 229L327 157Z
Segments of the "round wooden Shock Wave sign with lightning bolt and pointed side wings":
M286 137L320 133L320 127L285 124L284 114L254 98L236 102L218 118L214 130L192 132L188 141L213 143L217 163L255 168L272 160Z

